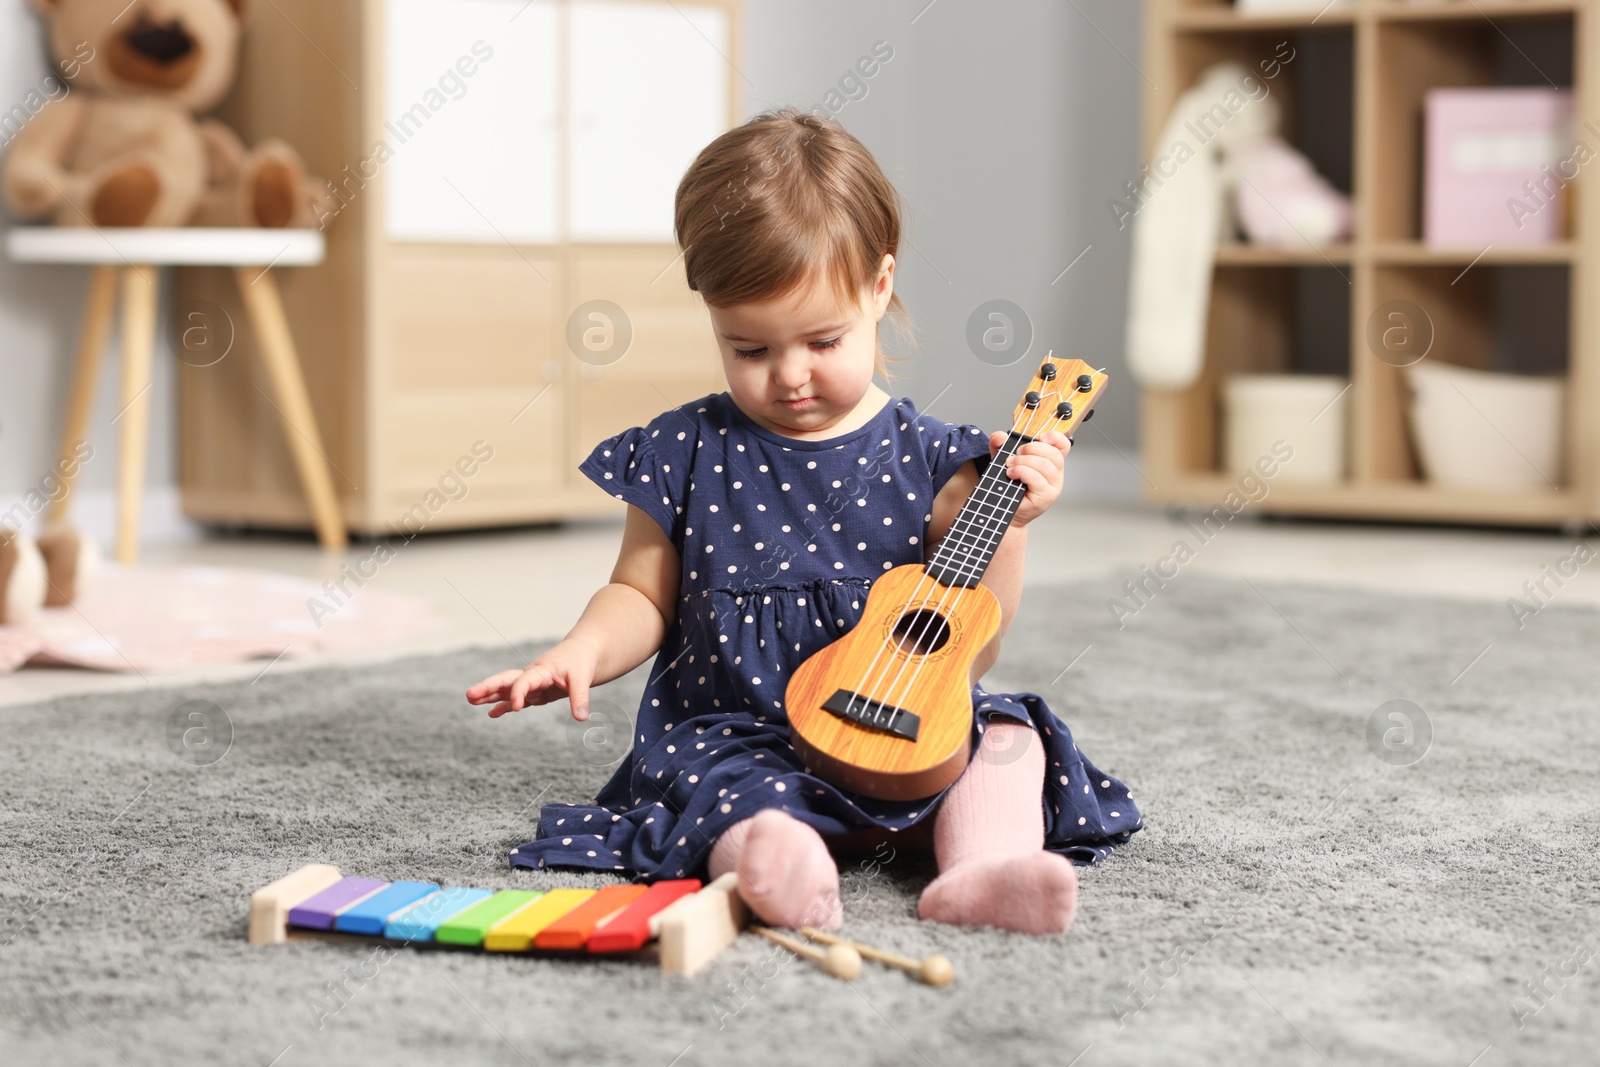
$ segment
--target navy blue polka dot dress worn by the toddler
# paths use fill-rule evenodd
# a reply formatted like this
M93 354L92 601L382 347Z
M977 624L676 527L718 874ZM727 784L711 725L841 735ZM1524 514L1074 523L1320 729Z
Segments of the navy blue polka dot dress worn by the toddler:
M726 394L603 442L581 470L654 518L683 561L677 619L638 707L634 749L594 805L546 805L514 867L590 867L635 881L706 877L734 822L781 808L824 837L904 830L938 797L861 797L808 774L789 745L784 689L808 656L861 617L877 576L922 563L933 498L989 461L974 426L891 402L827 440L755 424ZM1126 787L1083 758L1032 693L973 686L984 723L1029 723L1045 742L1045 846L1104 859L1142 825Z

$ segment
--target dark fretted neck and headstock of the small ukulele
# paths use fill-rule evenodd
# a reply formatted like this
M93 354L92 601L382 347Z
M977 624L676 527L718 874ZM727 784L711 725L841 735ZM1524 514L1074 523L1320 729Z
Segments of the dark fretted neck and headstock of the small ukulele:
M1011 424L1037 429L1038 434L1059 430L1069 438L1090 418L1094 402L1106 389L1106 374L1091 371L1082 360L1064 360L1061 366L1048 360L1016 406ZM1006 459L1035 435L1011 430L989 461L976 488L950 523L949 533L934 549L923 571L942 585L976 585L1000 547L1027 486L1005 472Z

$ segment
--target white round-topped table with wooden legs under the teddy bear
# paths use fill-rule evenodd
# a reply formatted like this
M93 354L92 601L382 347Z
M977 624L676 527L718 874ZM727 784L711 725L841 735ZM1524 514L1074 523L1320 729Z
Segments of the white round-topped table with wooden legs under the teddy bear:
M347 542L344 515L333 493L328 459L317 432L306 379L301 374L294 339L283 315L283 299L274 267L306 267L322 262L326 253L320 230L267 229L101 229L101 227L14 227L6 235L6 256L14 262L85 264L94 267L90 280L83 334L78 339L77 368L67 421L61 434L61 456L70 459L88 429L94 386L99 378L110 320L117 306L117 278L122 277L122 456L117 472L117 558L133 563L139 555L139 494L144 488L146 450L150 422L150 358L155 349L155 317L162 267L232 267L240 296L250 309L262 362L283 416L285 437L310 502L317 539L326 549ZM59 470L75 470L66 462ZM72 478L62 474L62 494L51 506L51 522L66 518Z

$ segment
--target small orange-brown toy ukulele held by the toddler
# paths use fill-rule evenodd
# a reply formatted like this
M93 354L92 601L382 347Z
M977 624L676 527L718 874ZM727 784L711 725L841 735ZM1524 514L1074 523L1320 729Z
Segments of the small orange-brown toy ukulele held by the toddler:
M800 664L786 704L811 771L880 800L933 797L962 776L971 665L1000 629L1000 601L978 582L1027 493L1005 462L1048 430L1070 438L1104 390L1106 374L1083 360L1046 360L933 558L885 571L861 622Z

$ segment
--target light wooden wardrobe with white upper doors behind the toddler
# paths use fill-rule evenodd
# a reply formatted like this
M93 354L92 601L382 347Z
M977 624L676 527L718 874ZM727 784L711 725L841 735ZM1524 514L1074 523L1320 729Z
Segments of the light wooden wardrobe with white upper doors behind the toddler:
M739 120L739 0L258 8L222 118L334 184L326 261L275 277L354 533L619 510L578 474L589 450L725 387L672 195ZM184 512L310 530L232 286L178 278L174 323L235 326L226 358L179 365Z

